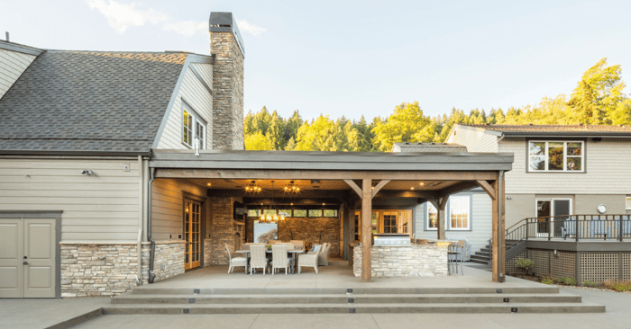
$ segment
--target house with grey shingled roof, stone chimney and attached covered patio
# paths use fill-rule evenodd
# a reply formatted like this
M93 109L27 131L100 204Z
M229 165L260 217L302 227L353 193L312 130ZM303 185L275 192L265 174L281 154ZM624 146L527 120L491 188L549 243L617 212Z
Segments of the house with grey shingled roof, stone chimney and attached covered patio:
M329 243L366 282L446 274L445 244L413 246L434 259L405 272L360 264L394 247L352 249L373 233L411 244L419 203L444 239L449 196L481 184L498 224L510 154L243 150L233 14L211 13L209 36L210 55L0 42L0 298L114 296L226 265L268 215L285 218L270 236Z

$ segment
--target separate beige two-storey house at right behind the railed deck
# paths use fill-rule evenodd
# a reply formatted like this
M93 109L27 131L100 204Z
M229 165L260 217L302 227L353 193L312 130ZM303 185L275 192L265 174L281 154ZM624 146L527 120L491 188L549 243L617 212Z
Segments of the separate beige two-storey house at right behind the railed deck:
M456 124L447 142L515 155L507 228L524 218L631 214L631 127Z

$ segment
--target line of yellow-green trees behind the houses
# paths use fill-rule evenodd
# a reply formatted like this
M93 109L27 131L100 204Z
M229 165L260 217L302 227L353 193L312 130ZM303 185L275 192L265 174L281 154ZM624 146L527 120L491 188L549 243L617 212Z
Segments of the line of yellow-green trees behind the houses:
M384 118L366 121L320 115L304 120L298 111L282 118L267 110L245 116L245 149L288 151L387 152L398 142L437 142L447 138L456 123L463 124L631 124L631 99L619 65L607 58L583 73L571 95L544 97L535 105L471 110L453 108L449 114L430 117L418 102L404 102Z

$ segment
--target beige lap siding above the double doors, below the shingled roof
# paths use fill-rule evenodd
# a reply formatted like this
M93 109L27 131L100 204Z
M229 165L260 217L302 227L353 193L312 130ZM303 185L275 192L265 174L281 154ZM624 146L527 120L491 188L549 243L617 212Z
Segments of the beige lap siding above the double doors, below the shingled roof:
M62 241L135 241L139 173L131 159L0 159L0 209L63 210Z

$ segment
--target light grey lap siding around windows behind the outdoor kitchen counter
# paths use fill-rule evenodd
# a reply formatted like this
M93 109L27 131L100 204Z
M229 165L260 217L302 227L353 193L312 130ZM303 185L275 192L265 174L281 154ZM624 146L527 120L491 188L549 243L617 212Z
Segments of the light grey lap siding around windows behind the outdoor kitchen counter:
M454 194L469 195L467 193ZM416 206L415 231L418 239L436 239L437 231L425 230L426 203ZM448 240L467 240L471 244L471 253L475 253L487 245L492 227L492 200L484 193L471 194L471 231L445 231ZM447 209L445 209L447 210ZM445 211L445 215L447 212Z

